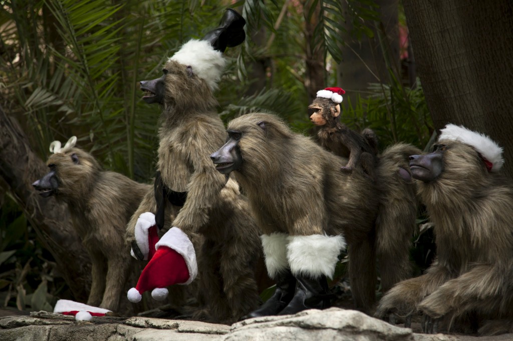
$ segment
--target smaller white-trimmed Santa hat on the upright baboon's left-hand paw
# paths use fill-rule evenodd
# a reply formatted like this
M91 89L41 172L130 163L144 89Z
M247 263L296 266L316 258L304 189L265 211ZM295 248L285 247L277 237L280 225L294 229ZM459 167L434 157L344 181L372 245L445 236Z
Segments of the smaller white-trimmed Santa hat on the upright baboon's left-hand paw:
M155 244L159 241L155 215L151 212L144 212L135 223L135 240L132 241L130 254L133 258L146 261L155 254Z

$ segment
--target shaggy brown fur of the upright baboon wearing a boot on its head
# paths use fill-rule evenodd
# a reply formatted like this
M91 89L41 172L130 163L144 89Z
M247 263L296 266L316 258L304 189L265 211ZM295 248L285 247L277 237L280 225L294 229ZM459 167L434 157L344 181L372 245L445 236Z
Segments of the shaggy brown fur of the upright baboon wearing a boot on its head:
M209 155L224 143L225 127L214 112L216 100L207 83L176 61L166 63L157 168L163 182L187 199L170 226L203 239L198 259L200 301L209 321L232 323L259 303L254 266L261 257L259 229L239 185L215 170ZM143 201L128 225L133 240L136 217L155 210ZM171 206L171 205L168 205Z

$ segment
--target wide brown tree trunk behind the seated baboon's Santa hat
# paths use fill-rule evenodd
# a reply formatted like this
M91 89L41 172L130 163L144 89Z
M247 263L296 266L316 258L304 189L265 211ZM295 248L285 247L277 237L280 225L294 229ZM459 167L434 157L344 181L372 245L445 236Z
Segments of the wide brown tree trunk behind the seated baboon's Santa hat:
M428 108L447 123L489 135L513 176L513 2L404 1Z

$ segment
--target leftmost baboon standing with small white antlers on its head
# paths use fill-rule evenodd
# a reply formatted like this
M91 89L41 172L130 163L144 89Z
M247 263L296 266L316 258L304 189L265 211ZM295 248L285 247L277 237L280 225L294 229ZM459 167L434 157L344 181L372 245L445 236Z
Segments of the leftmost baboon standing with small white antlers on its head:
M50 172L32 185L43 197L55 196L68 203L73 227L82 239L92 263L92 284L87 304L119 311L134 262L125 245L126 224L151 185L103 171L89 153L74 147L72 137L61 148L50 145Z

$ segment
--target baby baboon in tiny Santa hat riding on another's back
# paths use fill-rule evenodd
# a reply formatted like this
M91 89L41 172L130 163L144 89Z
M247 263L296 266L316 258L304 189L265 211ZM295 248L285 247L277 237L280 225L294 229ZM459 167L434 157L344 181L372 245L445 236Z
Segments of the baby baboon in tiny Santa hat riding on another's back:
M371 179L374 179L378 137L370 129L362 134L349 129L340 122L340 103L345 91L341 88L326 88L317 92L317 97L308 106L310 121L320 126L319 142L327 150L338 156L349 158L342 171L351 173L357 166L362 167Z

